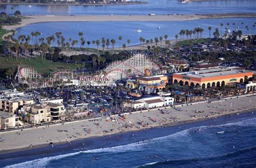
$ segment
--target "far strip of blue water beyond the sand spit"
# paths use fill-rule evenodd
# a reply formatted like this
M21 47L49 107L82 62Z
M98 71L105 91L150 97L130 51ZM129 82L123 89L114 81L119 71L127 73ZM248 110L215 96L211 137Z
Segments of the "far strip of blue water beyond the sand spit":
M180 0L146 0L148 4L135 5L103 5L103 6L73 6L73 5L7 5L6 12L16 10L22 15L148 15L156 13L199 14L199 13L234 13L255 12L254 0L221 0L206 2L191 2L181 4ZM14 10L11 10L14 7ZM3 11L3 8L0 10Z

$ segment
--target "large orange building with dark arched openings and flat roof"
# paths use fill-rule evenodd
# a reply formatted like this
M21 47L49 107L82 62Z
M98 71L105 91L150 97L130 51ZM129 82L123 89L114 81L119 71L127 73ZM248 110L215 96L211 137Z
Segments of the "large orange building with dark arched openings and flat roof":
M198 86L201 88L219 87L231 83L244 83L253 77L252 71L246 71L239 67L223 67L174 73L172 81L181 86Z

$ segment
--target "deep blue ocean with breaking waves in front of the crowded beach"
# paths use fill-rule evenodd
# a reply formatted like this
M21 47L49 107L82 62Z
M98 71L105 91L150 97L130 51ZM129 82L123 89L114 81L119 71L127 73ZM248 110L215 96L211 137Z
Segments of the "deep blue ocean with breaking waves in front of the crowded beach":
M10 153L2 156L0 166L255 167L255 117L254 111L110 138L89 138L75 142L72 147L47 146L44 152L34 149Z

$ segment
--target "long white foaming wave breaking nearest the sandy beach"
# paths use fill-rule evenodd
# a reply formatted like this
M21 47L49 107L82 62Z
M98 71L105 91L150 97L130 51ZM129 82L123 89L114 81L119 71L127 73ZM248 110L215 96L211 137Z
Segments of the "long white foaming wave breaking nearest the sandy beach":
M225 127L233 127L234 125L239 125L241 127L247 127L247 126L254 126L256 125L256 118L244 120L244 121L239 121L239 122L234 122L234 123L226 123L222 125L212 125L212 126L202 126L202 127L194 127L190 129L186 129L183 131L176 132L172 135L164 136L164 137L158 137L158 138L153 138L146 140L144 142L137 142L137 143L131 143L131 144L126 144L126 145L120 145L120 146L112 146L109 148L99 148L99 149L92 149L92 150L86 150L86 151L78 151L78 152L73 152L73 153L66 153L63 155L57 155L57 156L51 156L51 157L45 157L45 158L40 158L40 159L35 159L35 160L29 160L27 162L23 163L18 163L6 167L44 167L47 165L51 160L58 160L66 157L72 157L75 155L79 155L82 153L103 153L103 152L110 152L110 153L120 153L120 152L127 152L127 151L142 151L143 147L146 145L150 145L152 143L159 143L163 141L170 141L170 139L181 139L184 137L190 136L190 132L196 129L211 129L211 128L225 128ZM217 134L224 134L225 131L219 131ZM253 147L253 150L255 150L256 147ZM171 162L165 161L165 162ZM153 163L155 164L155 163ZM158 163L156 163L158 164Z

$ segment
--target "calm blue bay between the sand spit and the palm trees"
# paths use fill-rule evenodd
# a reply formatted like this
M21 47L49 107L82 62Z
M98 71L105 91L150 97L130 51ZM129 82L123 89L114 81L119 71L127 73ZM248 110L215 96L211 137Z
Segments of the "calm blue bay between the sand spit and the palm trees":
M241 23L244 23L241 25ZM80 37L78 32L84 33L84 39L86 41L92 41L99 39L101 41L102 37L105 39L109 38L110 40L116 39L116 47L119 46L118 37L122 36L121 46L123 43L126 43L127 39L130 39L131 45L140 44L139 38L143 37L147 39L153 39L155 37L164 37L165 34L169 36L168 39L175 39L175 34L179 34L181 29L194 30L195 27L202 27L204 29L203 37L209 37L208 26L212 26L212 33L215 31L215 28L218 28L221 31L220 24L223 23L222 34L225 33L225 27L227 23L230 23L229 28L234 30L237 26L241 27L242 32L254 34L256 32L255 27L253 27L255 18L222 18L222 19L198 19L198 20L188 20L188 21L179 21L179 22L58 22L58 24L51 23L36 23L28 26L20 27L17 29L15 37L24 34L25 36L30 35L31 32L39 31L42 33L41 36L38 36L37 39L43 37L51 36L55 32L62 32L62 36L68 41L69 38L72 40L78 40L76 47L80 47ZM235 23L235 25L233 25ZM249 30L245 29L245 26L248 25ZM157 27L160 26L161 29L158 30ZM45 27L48 27L45 29ZM142 30L141 33L137 30ZM186 36L185 36L186 38ZM193 38L193 35L192 35ZM36 38L34 37L30 43L35 43ZM39 43L39 42L38 42ZM55 41L57 43L57 40ZM57 44L55 44L56 46ZM84 45L86 47L87 44ZM110 44L110 47L112 44ZM126 46L127 43L126 43ZM97 47L96 44L90 44L89 47ZM100 44L101 47L101 44ZM127 48L126 48L127 49Z

